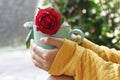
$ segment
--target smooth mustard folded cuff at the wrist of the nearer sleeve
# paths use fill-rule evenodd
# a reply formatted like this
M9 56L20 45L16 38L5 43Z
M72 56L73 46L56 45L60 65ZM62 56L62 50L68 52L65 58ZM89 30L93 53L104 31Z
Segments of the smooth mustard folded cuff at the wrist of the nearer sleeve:
M59 49L50 69L49 73L52 75L62 75L66 64L69 63L75 52L76 43L65 39L62 47Z

